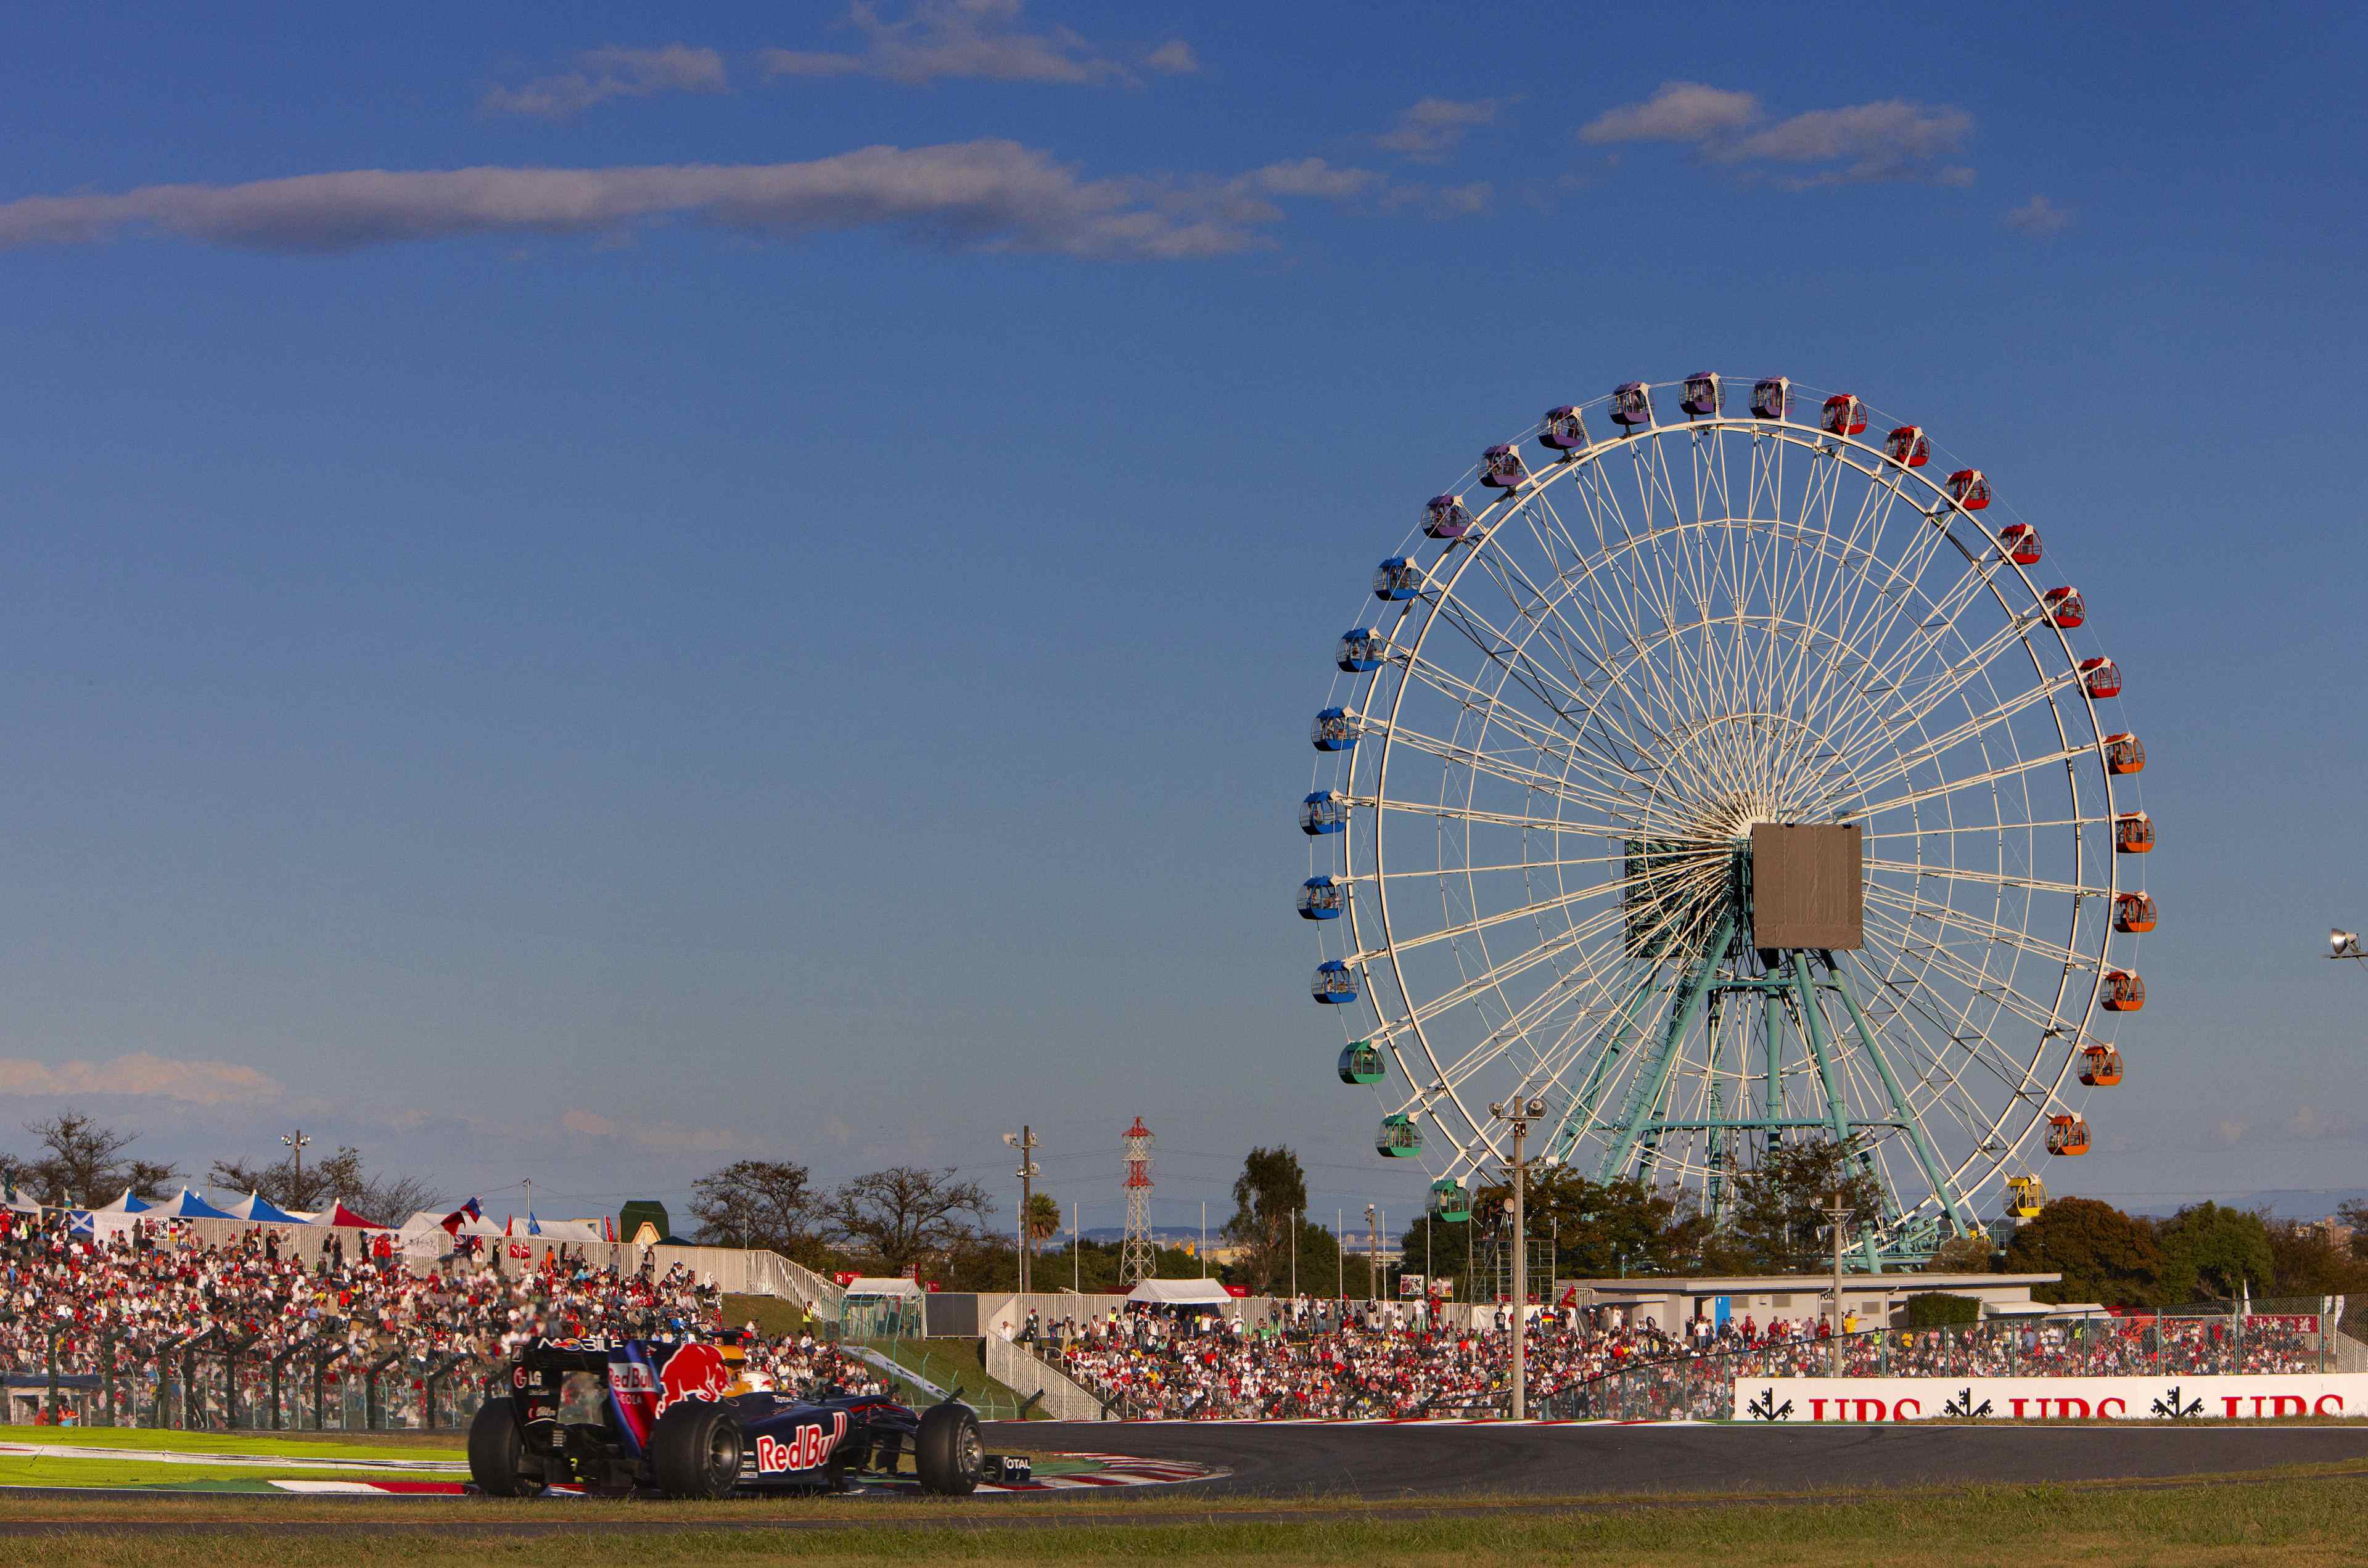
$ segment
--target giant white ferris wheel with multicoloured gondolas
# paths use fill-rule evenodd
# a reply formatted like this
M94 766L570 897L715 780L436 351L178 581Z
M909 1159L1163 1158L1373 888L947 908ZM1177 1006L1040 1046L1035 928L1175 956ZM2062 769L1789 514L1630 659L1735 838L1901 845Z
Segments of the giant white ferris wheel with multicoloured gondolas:
M2145 1004L2145 748L2039 531L1935 455L1783 377L1629 381L1487 448L1373 571L1298 907L1433 1213L1527 1099L1549 1163L1714 1215L1771 1146L1847 1144L1878 1262L2089 1151Z

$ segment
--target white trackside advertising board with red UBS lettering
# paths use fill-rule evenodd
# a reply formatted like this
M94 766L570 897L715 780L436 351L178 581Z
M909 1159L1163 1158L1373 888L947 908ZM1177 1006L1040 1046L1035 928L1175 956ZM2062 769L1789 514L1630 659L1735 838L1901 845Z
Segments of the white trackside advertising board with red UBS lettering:
M2368 1371L2164 1379L1736 1379L1736 1421L2271 1421L2368 1416Z

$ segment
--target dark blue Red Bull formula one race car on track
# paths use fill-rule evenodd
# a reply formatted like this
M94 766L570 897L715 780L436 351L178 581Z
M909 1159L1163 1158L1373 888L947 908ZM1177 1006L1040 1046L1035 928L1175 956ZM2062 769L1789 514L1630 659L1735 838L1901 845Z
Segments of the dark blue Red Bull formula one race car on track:
M985 1452L969 1405L914 1412L836 1388L796 1400L753 1386L736 1341L538 1338L509 1397L478 1407L469 1476L488 1497L845 1492L909 1454L924 1492L1028 1478L1025 1461Z

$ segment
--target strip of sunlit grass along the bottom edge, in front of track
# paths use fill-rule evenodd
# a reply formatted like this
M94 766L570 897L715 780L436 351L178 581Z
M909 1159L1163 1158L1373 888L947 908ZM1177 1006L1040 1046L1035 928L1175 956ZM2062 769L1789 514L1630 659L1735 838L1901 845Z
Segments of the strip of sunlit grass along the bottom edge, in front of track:
M1478 1506L1475 1506L1478 1504ZM1314 1518L1293 1518L1317 1509ZM751 1504L315 1504L275 1499L156 1499L111 1504L0 1502L5 1521L121 1518L140 1530L17 1537L24 1561L62 1568L372 1568L379 1563L516 1563L519 1568L649 1568L654 1563L1426 1563L1544 1561L1603 1568L1636 1563L1748 1563L1750 1568L2034 1568L2055 1563L2368 1563L2368 1471L2285 1471L2181 1485L1958 1487L1885 1495L1752 1499L1733 1506L1539 1504L1459 1499L1430 1516L1404 1504L1191 1502L1089 1495L973 1502L751 1502ZM1025 1530L1056 1511L1066 1528ZM552 1535L466 1530L514 1518L573 1521ZM173 1530L206 1521L336 1521L367 1530L230 1535ZM440 1530L405 1530L403 1523ZM751 1530L765 1521L822 1528ZM462 1530L452 1530L459 1523ZM654 1523L687 1523L651 1532ZM699 1528L710 1525L710 1528ZM744 1525L744 1528L732 1528Z

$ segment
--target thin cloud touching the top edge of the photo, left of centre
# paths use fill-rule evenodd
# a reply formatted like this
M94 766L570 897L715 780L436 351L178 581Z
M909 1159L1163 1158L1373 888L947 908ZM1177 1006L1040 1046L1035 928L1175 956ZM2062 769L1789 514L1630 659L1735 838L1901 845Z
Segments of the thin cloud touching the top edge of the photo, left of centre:
M1023 0L919 0L902 21L857 0L845 26L862 47L765 50L767 76L881 76L905 85L933 81L1035 81L1063 85L1130 83L1134 76L1106 50L1066 26L1028 31ZM1182 38L1153 50L1144 64L1175 76L1201 69Z

